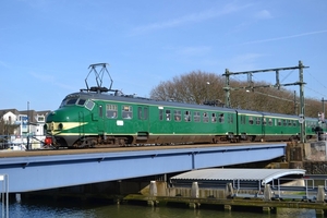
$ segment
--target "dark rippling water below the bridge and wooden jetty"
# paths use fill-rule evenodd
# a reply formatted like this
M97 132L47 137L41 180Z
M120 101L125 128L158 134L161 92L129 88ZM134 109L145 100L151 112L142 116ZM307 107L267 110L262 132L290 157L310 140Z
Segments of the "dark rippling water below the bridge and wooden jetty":
M1 210L1 208L0 208ZM2 213L0 213L1 216ZM277 214L262 214L251 211L221 211L217 209L191 209L177 208L170 206L141 206L128 204L87 204L81 202L47 202L29 201L21 203L10 203L9 217L14 218L313 218L316 217L312 209L279 209Z

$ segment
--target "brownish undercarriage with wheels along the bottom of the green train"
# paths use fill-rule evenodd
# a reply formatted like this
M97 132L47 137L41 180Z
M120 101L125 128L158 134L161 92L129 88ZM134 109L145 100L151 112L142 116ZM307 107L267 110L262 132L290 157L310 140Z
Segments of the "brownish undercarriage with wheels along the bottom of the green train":
M311 137L311 136L310 136ZM104 147L128 147L143 145L185 145L185 144L220 144L240 142L289 142L299 141L298 135L71 135L48 136L45 144L53 148L104 148Z

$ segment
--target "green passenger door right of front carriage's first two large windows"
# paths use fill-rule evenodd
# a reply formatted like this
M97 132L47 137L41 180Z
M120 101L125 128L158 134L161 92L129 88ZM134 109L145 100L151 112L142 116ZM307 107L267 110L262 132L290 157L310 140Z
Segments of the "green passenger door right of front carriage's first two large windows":
M149 109L147 106L137 106L137 140L148 138Z

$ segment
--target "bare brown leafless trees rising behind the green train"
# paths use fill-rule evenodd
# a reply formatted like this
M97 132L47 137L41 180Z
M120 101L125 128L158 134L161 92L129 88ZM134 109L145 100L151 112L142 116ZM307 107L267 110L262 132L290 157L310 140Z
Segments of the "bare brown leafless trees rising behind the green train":
M237 88L230 93L231 106L233 108L267 111L284 114L299 113L299 97L292 90L283 87L280 89L268 87L266 82L255 82L255 86L267 86L265 88ZM225 77L215 73L192 71L191 73L174 76L172 81L161 82L150 92L150 98L158 100L174 100L191 104L218 102L222 106L225 99ZM230 87L249 87L247 82L230 81ZM294 101L295 97L295 101ZM317 117L320 102L307 98L306 117Z

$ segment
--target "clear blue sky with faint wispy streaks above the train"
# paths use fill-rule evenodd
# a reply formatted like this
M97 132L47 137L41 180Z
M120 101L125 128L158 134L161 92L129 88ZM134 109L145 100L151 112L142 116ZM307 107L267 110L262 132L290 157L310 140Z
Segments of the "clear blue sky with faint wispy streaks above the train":
M191 71L302 60L304 95L327 99L326 0L3 0L0 10L0 109L55 110L99 62L113 88L149 97ZM275 73L253 80L275 84ZM298 70L280 72L281 83L296 81Z

